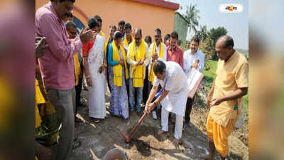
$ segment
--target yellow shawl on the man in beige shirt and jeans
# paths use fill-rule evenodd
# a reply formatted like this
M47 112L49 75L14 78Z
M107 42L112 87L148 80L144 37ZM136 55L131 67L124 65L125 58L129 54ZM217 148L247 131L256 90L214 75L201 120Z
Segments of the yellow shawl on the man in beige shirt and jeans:
M145 42L143 38L141 39L141 44L136 49L136 43L133 41L129 46L129 55L132 60L136 62L142 61L145 58ZM132 75L133 75L133 87L143 87L143 74L144 74L144 66L136 65L132 67Z

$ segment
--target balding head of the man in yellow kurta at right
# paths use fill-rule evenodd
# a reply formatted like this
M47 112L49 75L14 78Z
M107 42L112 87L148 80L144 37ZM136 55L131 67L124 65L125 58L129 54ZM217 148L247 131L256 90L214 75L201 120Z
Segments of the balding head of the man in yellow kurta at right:
M217 56L221 60L226 60L226 58L228 58L234 51L233 38L227 35L219 37L216 42L215 50L217 52Z

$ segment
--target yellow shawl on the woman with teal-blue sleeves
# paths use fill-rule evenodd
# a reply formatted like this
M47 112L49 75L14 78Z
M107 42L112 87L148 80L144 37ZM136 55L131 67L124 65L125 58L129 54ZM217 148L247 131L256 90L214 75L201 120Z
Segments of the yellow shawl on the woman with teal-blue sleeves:
M119 45L121 52L122 52L122 57L124 58L124 73L125 73L125 78L126 80L129 79L129 70L127 68L127 63L126 63L126 53L124 50L124 46L122 44ZM114 41L112 41L112 60L119 61L120 56L119 56L119 49L116 47L116 44ZM114 85L120 87L122 86L122 66L121 65L114 65Z

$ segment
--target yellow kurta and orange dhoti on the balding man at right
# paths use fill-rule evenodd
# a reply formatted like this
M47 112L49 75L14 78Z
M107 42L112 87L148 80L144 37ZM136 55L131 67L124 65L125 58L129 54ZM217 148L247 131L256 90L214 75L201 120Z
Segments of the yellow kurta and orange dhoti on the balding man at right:
M226 63L219 60L216 74L212 98L228 95L238 87L249 87L249 64L240 53L231 55ZM228 137L234 129L243 104L244 97L241 97L210 108L206 124L207 135L223 157L228 154Z

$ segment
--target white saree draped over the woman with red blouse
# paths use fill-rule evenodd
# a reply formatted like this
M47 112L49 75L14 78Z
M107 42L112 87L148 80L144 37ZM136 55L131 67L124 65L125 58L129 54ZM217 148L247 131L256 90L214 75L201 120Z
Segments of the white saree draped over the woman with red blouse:
M97 35L94 46L89 50L88 65L92 87L89 87L89 116L99 119L106 117L104 93L106 78L104 72L99 73L99 67L104 63L104 38Z

